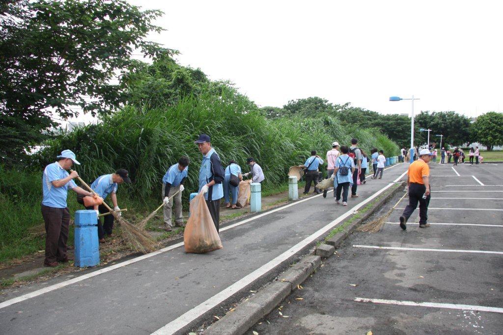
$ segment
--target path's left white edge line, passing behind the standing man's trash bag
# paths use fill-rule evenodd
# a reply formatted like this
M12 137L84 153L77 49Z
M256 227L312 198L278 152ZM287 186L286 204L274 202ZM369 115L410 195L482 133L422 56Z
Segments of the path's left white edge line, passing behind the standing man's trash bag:
M399 165L399 164L396 164L396 165ZM389 167L388 169L392 168L392 167L395 167L396 165L393 165L391 167ZM407 173L407 171L405 171L400 177L398 177L397 179L395 179L393 181L393 183L397 182L398 180L400 180L405 174ZM374 193L374 196L376 194L379 194L380 192L382 192L384 189L387 189L388 187L390 187L391 185L393 185L393 183L390 183L388 184L388 186L386 186L385 188L383 188L382 190L378 191L378 193ZM332 190L330 190L332 191ZM255 220L257 218L260 218L260 217L263 217L265 215L268 215L268 214L271 214L271 213L274 213L274 212L277 212L279 210L282 210L284 208L288 208L290 206L294 206L296 204L299 204L301 202L304 202L304 201L307 201L307 200L310 200L310 199L314 199L318 196L321 196L322 194L318 194L318 195L315 195L315 196L310 196L308 198L305 198L305 199L302 199L302 200L299 200L299 201L295 201L295 202L292 202L290 204L287 204L285 206L281 206L281 207L278 207L278 208L275 208L273 210L270 210L270 211L267 211L265 213L262 213L262 214L259 214L259 215L256 215L256 216L252 216L250 218L247 218L245 220L242 220L242 221L239 221L239 222L236 222L235 224L233 225L230 225L230 226L226 226L226 227L223 227L222 229L220 229L220 232L223 232L223 231L226 231L228 229L231 229L233 227L236 227L236 226L239 226L239 225L243 225L245 224L246 222L249 222L251 220ZM366 203L368 201L363 201L363 203ZM356 206L355 206L356 207ZM352 213L351 211L348 211L350 213ZM54 290L57 290L59 288L62 288L62 287L65 287L65 286L68 286L68 285L71 285L71 284L74 284L74 283L78 283L79 281L82 281L82 280L86 280L86 279L89 279L89 278L93 278L93 277L96 277L98 275L101 275L103 273L107 273L107 272L110 272L112 270L115 270L115 269L118 269L118 268L122 268L124 266L127 266L127 265L130 265L130 264L133 264L133 263L136 263L136 262L139 262L139 261L142 261L144 259L147 259L147 258L150 258L150 257L153 257L153 256L156 256L156 255L159 255L159 254L162 254L166 251L170 251L170 250L173 250L173 249L176 249L178 247L181 247L183 246L184 243L183 242L179 242L179 243L176 243L172 246L169 246L169 247L166 247L166 248L162 248L162 249L159 249L157 251L154 251L152 253L149 253L149 254L145 254L145 255L141 255L141 256L138 256L138 257L135 257L135 258L132 258L130 260L127 260L127 261L124 261L124 262L120 262L118 264L115 264L115 265L111 265L111 266L108 266L106 268L103 268L103 269L100 269L100 270L96 270L96 271L93 271L93 272L90 272L88 274L85 274L85 275L82 275L82 276L78 276L78 277L75 277L75 278L72 278L72 279L68 279L68 280L65 280L65 281L62 281L60 283L57 283L57 284L54 284L54 285L51 285L51 286L47 286L47 287L44 287L44 288L41 288L41 289L38 289L38 290L35 290L33 292L29 292L29 293L25 293L25 294L22 294L20 296L17 296L15 298L12 298L12 299L9 299L9 300L6 300L4 302L0 302L0 309L2 308L5 308L5 307L8 307L10 305L13 305L15 303L18 303L18 302L21 302L21 301L24 301L24 300L28 300L28 299L31 299L31 298L34 298L36 296L39 296L41 294L44 294L44 293L47 293L47 292L51 292L51 291L54 291Z

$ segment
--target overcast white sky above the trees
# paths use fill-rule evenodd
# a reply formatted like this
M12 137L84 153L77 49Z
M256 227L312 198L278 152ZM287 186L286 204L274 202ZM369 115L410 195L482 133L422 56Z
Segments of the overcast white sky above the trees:
M320 96L380 113L500 111L500 1L161 1L149 39L260 106Z

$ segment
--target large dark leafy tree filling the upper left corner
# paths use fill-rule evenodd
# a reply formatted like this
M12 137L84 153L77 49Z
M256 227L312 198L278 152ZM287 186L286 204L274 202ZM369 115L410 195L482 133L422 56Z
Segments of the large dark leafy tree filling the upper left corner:
M145 41L160 11L125 0L7 0L0 6L0 158L43 139L53 116L107 114L127 98L122 78L145 56L173 50ZM118 83L113 80L118 76Z

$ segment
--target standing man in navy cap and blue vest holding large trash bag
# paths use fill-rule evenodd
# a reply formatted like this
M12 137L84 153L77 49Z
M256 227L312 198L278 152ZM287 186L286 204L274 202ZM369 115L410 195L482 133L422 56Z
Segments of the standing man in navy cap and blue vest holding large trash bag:
M208 135L201 134L194 143L197 144L199 151L203 154L203 161L199 170L199 192L205 193L206 204L218 232L220 199L223 198L222 182L225 178L225 171L220 157L215 149L211 147Z

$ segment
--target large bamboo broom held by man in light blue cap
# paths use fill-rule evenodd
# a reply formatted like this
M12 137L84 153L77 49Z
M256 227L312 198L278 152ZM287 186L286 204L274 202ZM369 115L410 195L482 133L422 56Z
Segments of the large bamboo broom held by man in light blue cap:
M71 172L72 170L70 170ZM82 178L77 177L78 181L93 194L96 192L88 185ZM119 222L122 228L124 240L131 247L132 250L141 252L143 254L152 252L156 249L157 244L147 235L143 230L138 229L136 226L130 224L126 219L119 216L109 205L103 202L103 205L114 215L114 218Z

